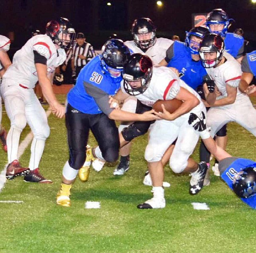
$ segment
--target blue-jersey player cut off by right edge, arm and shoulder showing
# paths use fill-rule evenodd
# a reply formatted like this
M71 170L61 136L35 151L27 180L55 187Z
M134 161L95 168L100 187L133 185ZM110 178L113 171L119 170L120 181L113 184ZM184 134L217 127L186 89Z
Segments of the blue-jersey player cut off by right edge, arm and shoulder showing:
M241 69L243 73L240 79L239 90L247 95L256 92L256 85L250 85L253 76L256 76L256 51L247 53L244 56Z

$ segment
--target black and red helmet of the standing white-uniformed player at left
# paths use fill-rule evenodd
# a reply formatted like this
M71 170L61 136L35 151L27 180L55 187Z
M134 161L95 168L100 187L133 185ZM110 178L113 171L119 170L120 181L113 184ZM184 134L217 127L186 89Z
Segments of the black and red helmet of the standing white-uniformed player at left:
M76 37L75 30L67 18L49 21L46 24L46 34L53 40L53 43L63 49L70 49Z

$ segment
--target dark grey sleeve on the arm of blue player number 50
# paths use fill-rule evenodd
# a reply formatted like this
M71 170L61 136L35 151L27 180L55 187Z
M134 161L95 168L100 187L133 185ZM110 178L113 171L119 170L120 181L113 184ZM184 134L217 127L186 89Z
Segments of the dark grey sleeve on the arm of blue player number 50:
M114 108L109 107L109 94L107 94L105 91L97 88L96 86L88 82L84 82L84 88L88 95L94 98L98 107L100 107L103 113L105 113L107 116L114 110Z

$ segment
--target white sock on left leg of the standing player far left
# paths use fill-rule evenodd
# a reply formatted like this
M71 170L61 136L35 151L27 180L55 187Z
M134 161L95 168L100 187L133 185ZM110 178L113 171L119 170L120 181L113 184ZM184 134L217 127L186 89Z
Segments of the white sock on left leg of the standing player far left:
M7 134L8 163L18 160L18 148L20 142L21 130L11 127Z

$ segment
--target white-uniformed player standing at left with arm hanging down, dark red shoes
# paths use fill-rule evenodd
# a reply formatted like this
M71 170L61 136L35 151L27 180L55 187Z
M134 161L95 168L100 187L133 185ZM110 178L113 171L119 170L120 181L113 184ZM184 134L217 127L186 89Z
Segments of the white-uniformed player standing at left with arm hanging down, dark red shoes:
M64 116L65 108L57 101L51 80L55 68L66 59L64 48L70 47L74 35L74 29L68 19L60 18L58 21L48 22L46 34L36 35L29 39L14 54L13 64L3 76L1 94L11 121L7 136L9 165L6 177L8 179L26 174L24 177L26 182L52 183L51 180L45 179L38 169L50 128L45 110L33 88L39 81L53 114L58 118ZM29 168L24 168L18 162L18 146L20 134L27 123L34 138L31 143Z

